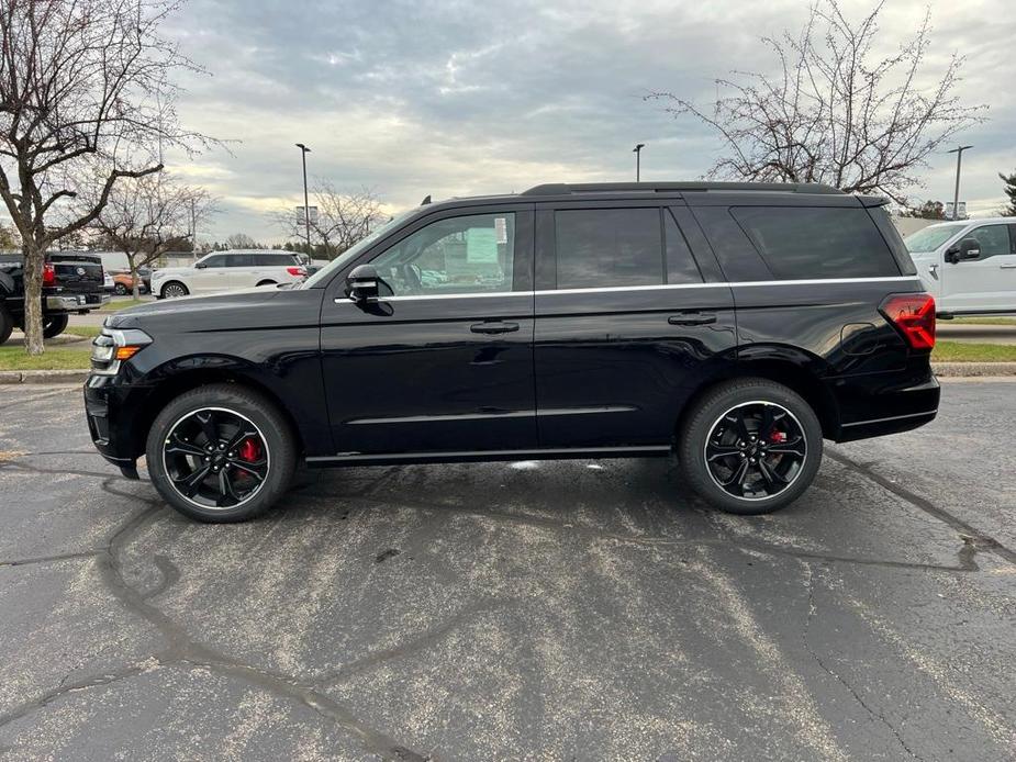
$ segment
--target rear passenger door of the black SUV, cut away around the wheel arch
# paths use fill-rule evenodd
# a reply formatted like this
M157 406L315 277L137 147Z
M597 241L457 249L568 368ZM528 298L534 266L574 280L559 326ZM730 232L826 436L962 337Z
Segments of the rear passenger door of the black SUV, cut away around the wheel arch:
M702 268L690 233L711 258ZM537 211L542 448L670 447L689 395L735 361L733 295L712 257L683 206L605 201Z

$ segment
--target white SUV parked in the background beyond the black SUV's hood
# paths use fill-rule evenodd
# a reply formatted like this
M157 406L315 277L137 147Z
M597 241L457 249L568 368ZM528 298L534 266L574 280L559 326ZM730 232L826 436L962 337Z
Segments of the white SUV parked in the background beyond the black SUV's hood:
M193 267L167 267L152 272L153 293L159 299L299 283L306 277L300 258L288 251L263 249L217 251Z

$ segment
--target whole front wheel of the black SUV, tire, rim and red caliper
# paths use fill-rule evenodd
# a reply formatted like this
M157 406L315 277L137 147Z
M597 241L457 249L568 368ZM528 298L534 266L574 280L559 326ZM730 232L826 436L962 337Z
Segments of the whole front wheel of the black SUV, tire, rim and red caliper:
M219 442L212 451L210 439ZM289 488L297 466L295 437L279 408L227 383L199 386L166 405L148 432L145 455L163 498L210 523L260 515Z

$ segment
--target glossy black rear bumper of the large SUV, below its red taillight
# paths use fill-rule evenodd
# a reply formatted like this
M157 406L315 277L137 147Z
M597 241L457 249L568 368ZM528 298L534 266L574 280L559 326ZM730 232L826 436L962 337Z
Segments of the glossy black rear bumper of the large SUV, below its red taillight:
M852 441L924 426L938 414L941 388L924 361L906 376L872 374L833 384L840 408L836 441Z

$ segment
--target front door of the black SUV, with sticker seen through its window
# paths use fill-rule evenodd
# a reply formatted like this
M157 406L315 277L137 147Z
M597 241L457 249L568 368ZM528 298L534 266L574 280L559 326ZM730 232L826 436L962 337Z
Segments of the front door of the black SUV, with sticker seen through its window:
M529 205L440 211L338 273L321 345L339 457L535 447L532 248ZM356 303L345 274L367 261L381 294Z

